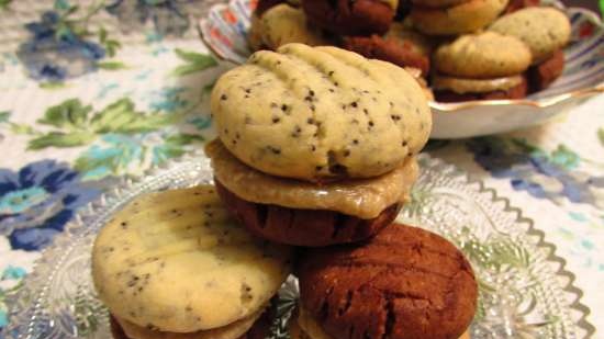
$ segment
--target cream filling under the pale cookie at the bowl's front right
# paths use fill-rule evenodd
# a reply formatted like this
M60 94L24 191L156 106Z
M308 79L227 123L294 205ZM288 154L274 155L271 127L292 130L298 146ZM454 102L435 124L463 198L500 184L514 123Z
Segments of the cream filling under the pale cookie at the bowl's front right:
M450 90L459 94L488 93L507 91L523 81L522 76L502 77L494 79L463 79L446 76L435 76L432 87L435 90Z

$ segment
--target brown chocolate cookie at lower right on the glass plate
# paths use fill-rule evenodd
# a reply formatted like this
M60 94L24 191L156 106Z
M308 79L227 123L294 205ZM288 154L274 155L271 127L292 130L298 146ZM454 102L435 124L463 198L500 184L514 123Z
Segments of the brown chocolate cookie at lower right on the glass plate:
M458 338L477 307L477 281L463 255L403 225L359 246L309 249L297 275L301 308L331 338Z

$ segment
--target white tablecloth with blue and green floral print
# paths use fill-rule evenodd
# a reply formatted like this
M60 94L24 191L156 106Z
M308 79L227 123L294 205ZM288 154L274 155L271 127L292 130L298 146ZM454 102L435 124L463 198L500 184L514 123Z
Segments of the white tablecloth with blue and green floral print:
M7 297L79 208L214 136L208 95L227 66L199 38L202 2L0 0L0 328ZM604 97L541 127L427 151L546 231L603 338Z

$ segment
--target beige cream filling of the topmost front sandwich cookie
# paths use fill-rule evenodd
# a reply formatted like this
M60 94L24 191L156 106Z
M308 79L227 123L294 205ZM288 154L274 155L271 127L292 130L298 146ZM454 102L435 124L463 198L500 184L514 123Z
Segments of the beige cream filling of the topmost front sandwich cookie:
M205 147L216 179L235 195L254 203L290 208L328 210L362 219L374 218L387 207L409 201L418 176L415 158L383 176L370 179L311 183L265 174L239 161L221 142Z

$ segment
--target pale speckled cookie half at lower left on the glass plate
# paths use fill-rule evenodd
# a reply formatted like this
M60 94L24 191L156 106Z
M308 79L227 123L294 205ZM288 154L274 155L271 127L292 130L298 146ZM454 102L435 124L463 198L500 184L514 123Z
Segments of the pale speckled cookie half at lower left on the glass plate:
M143 195L116 213L94 241L92 278L116 318L193 332L257 314L289 259L288 247L251 237L202 185Z

